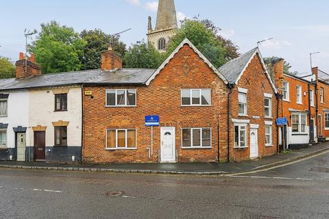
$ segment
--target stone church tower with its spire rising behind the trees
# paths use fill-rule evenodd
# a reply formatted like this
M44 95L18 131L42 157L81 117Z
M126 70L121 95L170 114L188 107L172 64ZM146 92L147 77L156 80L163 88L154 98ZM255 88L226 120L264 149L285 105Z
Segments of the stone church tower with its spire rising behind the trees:
M169 39L176 34L177 29L175 3L173 0L159 0L156 28L152 28L151 17L149 16L147 40L154 44L158 51L165 52Z

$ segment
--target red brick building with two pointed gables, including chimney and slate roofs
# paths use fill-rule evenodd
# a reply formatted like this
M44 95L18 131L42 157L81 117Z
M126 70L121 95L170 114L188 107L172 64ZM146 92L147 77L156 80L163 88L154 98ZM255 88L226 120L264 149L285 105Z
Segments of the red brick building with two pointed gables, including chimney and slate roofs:
M103 53L103 70L84 83L83 162L225 162L276 153L276 88L258 49L219 69L187 39L158 69L122 68L113 54ZM153 132L147 115L160 116Z

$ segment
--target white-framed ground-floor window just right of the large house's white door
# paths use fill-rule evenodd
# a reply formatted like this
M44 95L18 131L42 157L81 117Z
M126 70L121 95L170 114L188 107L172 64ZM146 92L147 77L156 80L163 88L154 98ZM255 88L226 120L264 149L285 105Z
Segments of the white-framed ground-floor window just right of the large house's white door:
M182 148L211 147L211 129L182 129Z

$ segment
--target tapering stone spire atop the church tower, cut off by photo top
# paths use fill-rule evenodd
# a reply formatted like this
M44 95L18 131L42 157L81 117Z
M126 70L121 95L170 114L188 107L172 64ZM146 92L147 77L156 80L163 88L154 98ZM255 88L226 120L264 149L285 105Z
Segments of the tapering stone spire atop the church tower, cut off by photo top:
M177 28L175 3L173 0L159 0L156 30Z

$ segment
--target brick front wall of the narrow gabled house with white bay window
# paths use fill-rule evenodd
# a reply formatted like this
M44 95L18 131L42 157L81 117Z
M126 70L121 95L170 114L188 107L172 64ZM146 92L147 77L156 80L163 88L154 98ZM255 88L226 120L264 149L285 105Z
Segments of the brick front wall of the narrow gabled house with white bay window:
M239 116L238 88L247 89L247 116ZM264 93L272 94L272 119L265 118ZM277 104L276 94L271 83L264 73L264 69L258 55L255 55L249 63L236 88L232 90L230 102L232 118L250 120L250 124L258 127L258 154L259 157L273 155L277 151ZM272 143L273 146L265 146L265 120L273 122ZM230 159L240 161L248 159L250 155L250 126L247 126L247 148L234 149L234 124L230 123Z

